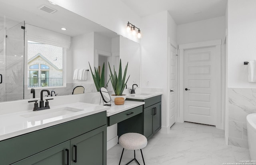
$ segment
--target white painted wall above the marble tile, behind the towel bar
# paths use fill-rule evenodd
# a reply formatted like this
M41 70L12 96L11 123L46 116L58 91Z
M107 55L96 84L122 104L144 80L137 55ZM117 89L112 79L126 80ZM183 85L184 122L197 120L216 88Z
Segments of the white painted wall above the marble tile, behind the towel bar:
M244 65L256 59L255 8L255 0L228 1L228 87L256 87L248 82L248 66Z

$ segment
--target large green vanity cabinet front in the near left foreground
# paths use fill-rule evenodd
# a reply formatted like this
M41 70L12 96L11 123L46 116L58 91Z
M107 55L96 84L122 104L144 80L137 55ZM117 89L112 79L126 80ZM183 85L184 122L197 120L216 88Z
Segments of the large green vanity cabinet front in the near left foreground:
M103 111L0 141L0 164L106 165L106 127Z

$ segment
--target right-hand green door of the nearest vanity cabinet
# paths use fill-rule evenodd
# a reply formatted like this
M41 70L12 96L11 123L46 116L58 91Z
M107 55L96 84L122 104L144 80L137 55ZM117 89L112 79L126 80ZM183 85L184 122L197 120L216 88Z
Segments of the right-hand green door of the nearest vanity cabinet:
M71 139L71 165L106 165L106 133L105 125Z

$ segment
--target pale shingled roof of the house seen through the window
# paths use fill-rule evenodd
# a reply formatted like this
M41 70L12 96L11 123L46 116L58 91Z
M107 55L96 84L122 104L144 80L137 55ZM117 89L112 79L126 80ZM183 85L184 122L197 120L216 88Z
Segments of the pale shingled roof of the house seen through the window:
M38 50L40 50L40 52L38 52ZM40 54L40 56L44 57L48 63L50 62L58 69L62 69L62 51L63 50L61 47L38 43L28 43L28 62Z

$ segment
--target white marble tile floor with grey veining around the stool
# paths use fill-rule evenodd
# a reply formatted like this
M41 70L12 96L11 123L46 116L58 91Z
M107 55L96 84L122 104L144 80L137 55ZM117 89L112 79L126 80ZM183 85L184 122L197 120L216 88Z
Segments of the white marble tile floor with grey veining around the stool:
M124 150L121 165L133 159L133 152ZM189 122L175 123L168 134L156 133L142 152L146 165L224 165L250 160L248 149L225 145L223 130ZM107 165L118 165L121 153L119 144L109 149ZM136 159L143 165L140 150Z

